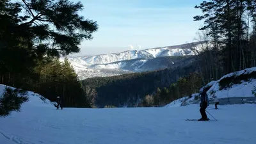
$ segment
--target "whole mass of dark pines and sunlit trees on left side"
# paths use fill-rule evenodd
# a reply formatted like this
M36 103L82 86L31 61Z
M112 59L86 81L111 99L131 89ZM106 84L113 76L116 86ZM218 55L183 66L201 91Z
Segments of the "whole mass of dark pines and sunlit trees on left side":
M66 107L90 106L70 63L58 61L98 29L79 10L81 2L0 1L0 83L50 100L60 95Z

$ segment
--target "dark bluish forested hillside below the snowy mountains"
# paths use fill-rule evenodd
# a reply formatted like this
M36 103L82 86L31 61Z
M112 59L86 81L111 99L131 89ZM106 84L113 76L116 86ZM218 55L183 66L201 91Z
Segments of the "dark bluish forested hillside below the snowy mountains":
M190 61L187 65L152 72L93 77L84 79L82 84L90 103L98 108L136 107L145 95L151 95L157 88L168 87L180 77L188 76L195 71L197 71L196 63Z

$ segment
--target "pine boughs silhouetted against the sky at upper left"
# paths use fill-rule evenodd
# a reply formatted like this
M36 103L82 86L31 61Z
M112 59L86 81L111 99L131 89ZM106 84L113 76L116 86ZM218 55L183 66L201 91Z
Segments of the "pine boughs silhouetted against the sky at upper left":
M92 40L92 33L98 29L96 22L77 15L83 10L81 2L22 0L20 5L26 10L27 19L20 20L16 28L29 28L24 35L35 35L33 49L45 45L40 51L53 56L79 52L81 40Z

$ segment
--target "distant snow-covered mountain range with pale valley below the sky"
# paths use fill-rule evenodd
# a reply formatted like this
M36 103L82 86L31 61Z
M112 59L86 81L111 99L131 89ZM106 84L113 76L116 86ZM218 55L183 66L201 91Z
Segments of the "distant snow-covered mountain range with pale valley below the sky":
M204 43L195 42L141 51L132 50L96 56L68 56L67 58L79 78L86 79L186 65L195 59L193 56L196 52L203 50L202 45ZM60 61L63 60L64 58L60 58Z

